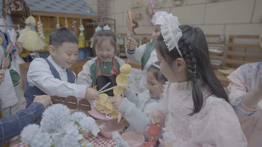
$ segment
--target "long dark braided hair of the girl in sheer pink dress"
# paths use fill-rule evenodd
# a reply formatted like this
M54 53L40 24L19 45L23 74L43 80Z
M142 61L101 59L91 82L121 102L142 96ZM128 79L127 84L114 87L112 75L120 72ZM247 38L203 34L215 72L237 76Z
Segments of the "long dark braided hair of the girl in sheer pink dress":
M208 45L203 31L200 28L187 25L179 26L179 28L182 31L182 36L178 42L178 46L182 53L182 58L186 61L190 81L193 83L192 98L194 108L193 112L189 115L193 116L198 113L204 102L197 79L200 79L203 84L207 85L214 95L229 102L225 89L213 73ZM176 48L170 52L168 51L162 35L158 38L156 49L170 65L176 59L181 58Z

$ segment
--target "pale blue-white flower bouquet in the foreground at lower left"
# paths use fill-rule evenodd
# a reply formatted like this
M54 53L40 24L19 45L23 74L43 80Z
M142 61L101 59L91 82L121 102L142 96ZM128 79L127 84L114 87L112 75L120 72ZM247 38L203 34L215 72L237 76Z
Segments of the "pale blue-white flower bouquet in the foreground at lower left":
M82 112L70 115L63 104L54 104L45 110L40 126L30 124L21 132L23 143L30 147L81 147L83 135L98 135L96 121Z

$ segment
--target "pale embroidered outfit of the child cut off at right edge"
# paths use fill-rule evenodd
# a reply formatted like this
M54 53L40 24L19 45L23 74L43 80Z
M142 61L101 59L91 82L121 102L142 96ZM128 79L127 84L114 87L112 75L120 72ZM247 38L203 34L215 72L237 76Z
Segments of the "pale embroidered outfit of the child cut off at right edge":
M231 73L228 89L229 101L238 115L247 139L247 147L262 147L262 100L256 109L248 109L242 100L259 83L262 62L248 63Z

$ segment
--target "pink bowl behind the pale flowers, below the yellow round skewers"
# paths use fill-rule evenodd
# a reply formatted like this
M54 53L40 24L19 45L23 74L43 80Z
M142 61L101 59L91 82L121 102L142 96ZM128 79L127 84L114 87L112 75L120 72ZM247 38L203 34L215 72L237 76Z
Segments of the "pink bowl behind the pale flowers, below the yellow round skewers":
M96 120L98 125L105 123L105 127L100 129L100 133L104 135L107 139L112 139L112 133L114 131L119 132L121 134L124 131L124 123L120 121L117 123L117 120L112 121L104 121L104 120Z

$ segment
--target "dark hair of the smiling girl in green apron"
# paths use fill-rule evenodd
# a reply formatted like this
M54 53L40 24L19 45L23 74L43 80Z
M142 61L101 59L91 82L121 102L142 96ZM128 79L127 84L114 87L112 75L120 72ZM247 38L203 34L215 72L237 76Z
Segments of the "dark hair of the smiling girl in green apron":
M102 26L100 26L100 27L103 28L103 27L106 26L106 25L107 25L107 24L102 25ZM109 37L111 44L113 44L113 46L114 46L115 49L116 49L116 37L115 37L115 33L114 33L112 30L104 30L104 29L95 32L94 38L93 38L93 47L95 47L96 44L97 44L100 40L103 40L103 39L104 39L103 37Z

